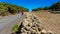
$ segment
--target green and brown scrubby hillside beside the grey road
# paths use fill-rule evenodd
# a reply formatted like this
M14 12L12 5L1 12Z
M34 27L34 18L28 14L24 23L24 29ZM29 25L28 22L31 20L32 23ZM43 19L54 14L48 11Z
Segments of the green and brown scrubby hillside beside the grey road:
M9 14L16 14L20 12L28 12L27 8L22 6L12 5L5 2L0 2L0 15L9 15Z

